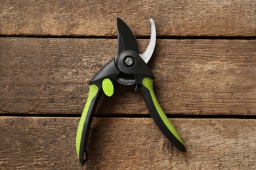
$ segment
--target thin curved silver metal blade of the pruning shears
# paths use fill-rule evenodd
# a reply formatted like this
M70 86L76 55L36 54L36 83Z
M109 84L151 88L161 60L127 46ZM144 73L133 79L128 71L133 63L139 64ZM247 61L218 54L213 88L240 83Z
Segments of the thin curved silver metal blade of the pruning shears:
M151 18L150 18L150 25L151 25L150 42L145 52L140 54L140 57L145 61L145 63L148 63L148 61L150 60L156 46L156 26L154 24L154 20Z

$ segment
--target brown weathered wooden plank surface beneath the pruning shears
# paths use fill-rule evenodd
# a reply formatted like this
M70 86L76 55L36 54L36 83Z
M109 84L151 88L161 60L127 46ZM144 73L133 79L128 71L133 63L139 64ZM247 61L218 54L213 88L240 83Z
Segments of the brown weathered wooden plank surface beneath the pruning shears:
M116 16L150 60L161 107L187 152L154 124L140 92L102 97L84 169L256 169L255 1L1 1L0 169L79 169L75 133L88 82L116 56Z

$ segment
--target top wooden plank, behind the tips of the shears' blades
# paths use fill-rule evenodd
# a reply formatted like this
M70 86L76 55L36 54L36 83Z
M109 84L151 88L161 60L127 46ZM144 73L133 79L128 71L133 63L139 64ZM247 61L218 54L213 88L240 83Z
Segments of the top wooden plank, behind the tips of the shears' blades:
M256 36L255 1L1 1L0 35L116 36L116 16L138 36ZM135 19L136 18L136 19Z

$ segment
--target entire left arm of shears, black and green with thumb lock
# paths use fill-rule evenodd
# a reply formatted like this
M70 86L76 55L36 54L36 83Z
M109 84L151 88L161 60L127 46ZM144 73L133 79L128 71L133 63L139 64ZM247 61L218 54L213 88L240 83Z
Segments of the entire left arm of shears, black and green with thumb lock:
M93 115L95 114L95 109L98 105L100 95L102 92L107 96L111 96L113 94L114 88L112 82L116 80L119 73L120 71L115 65L115 59L112 59L104 65L104 67L102 67L102 69L100 69L100 71L98 71L98 73L96 73L89 82L89 95L79 121L75 139L77 157L81 165L84 165L89 158L87 152L87 141L91 122L93 120ZM86 156L85 158L84 154Z

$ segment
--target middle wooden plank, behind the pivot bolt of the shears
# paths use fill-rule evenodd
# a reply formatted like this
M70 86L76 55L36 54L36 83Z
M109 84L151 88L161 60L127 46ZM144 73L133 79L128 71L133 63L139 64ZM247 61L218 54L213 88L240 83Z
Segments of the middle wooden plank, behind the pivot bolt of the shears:
M142 49L148 40L140 40ZM0 112L80 114L88 82L116 55L112 39L0 39ZM255 40L158 40L149 65L167 114L256 114ZM148 114L134 86L100 114ZM140 103L140 104L138 104Z

